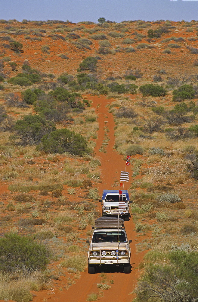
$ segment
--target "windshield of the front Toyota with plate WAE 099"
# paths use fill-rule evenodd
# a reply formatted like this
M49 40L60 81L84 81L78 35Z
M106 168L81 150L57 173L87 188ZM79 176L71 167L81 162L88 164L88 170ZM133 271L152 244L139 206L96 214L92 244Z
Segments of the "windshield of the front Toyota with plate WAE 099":
M118 232L112 231L100 231L95 232L92 238L92 243L97 242L126 242L126 234L124 231L119 231L119 238L118 238Z

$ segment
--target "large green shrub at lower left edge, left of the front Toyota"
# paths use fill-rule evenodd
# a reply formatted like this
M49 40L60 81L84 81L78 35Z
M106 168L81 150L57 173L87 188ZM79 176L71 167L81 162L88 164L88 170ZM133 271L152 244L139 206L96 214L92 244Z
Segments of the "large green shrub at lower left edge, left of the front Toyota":
M32 272L43 269L49 253L45 246L31 237L5 234L0 238L0 270L4 272Z

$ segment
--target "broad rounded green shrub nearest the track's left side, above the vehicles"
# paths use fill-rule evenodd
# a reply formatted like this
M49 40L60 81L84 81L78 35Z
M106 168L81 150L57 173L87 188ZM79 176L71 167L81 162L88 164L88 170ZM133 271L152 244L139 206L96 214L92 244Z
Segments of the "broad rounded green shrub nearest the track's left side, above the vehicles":
M43 136L40 148L49 153L68 152L72 155L80 156L88 152L85 138L79 133L66 128L52 131Z

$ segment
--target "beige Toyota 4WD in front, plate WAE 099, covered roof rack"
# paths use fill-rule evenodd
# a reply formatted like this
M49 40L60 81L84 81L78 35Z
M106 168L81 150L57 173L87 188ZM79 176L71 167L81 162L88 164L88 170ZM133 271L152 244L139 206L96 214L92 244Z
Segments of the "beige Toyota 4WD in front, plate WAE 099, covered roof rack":
M116 217L100 217L95 227L88 250L88 273L94 274L99 266L122 266L123 272L131 272L131 249L124 227L124 220Z

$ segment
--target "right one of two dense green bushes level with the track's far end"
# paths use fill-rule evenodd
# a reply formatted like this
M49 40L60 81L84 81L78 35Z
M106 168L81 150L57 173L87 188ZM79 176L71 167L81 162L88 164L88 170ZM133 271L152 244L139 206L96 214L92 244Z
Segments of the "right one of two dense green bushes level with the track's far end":
M177 89L174 89L173 92L173 98L172 100L174 102L181 102L186 99L192 99L195 96L195 90L193 89L193 86L190 85L182 85Z

